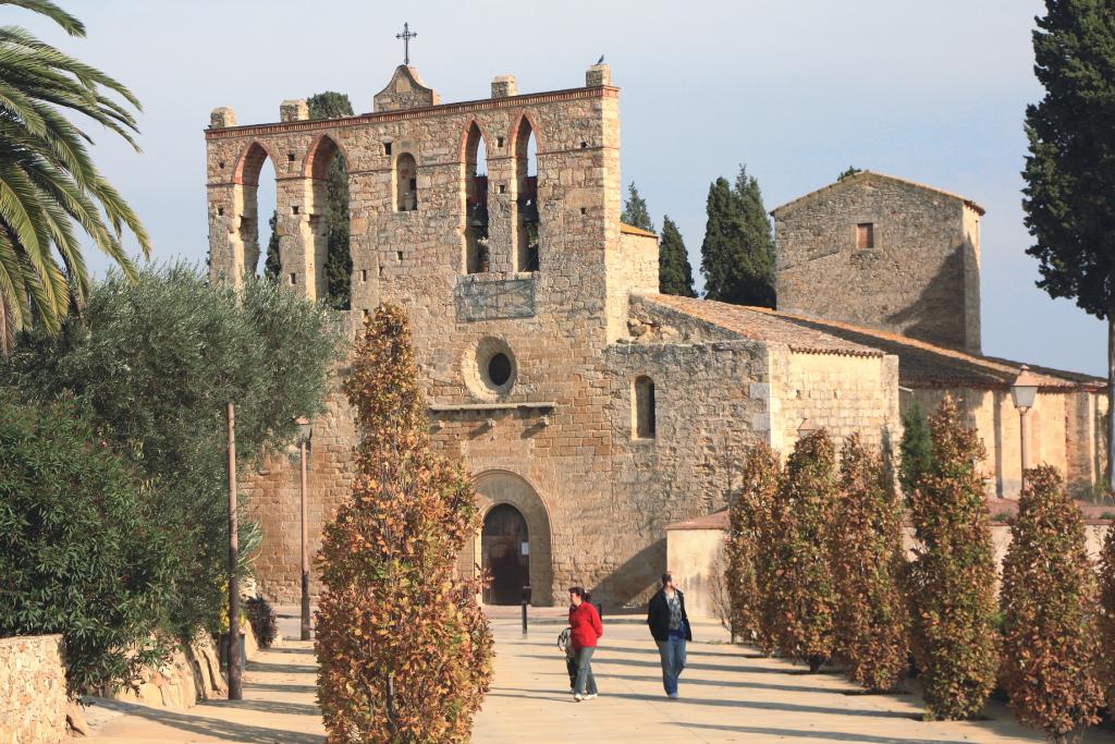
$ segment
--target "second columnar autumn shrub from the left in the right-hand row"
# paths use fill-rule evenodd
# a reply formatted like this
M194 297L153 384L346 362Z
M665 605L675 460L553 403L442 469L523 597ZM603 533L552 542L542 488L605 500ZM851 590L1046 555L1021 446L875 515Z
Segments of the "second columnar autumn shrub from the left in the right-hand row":
M778 653L816 671L832 657L836 590L828 530L836 506L836 451L824 429L794 445L772 509L770 581Z

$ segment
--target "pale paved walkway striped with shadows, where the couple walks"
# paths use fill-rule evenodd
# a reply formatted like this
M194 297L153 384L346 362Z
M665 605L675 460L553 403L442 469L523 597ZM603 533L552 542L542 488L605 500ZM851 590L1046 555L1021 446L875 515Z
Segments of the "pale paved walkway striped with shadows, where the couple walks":
M729 646L724 631L698 624L701 640L689 647L681 699L662 695L658 653L640 618L604 618L603 645L593 659L600 697L575 703L555 641L561 610L532 609L530 635L517 609L489 612L496 634L495 683L476 718L477 744L565 742L1043 742L1021 729L1002 705L989 721L924 723L915 695L847 695L855 689L838 674L804 675L801 668L753 658ZM288 631L288 628L283 628ZM720 642L715 642L720 641ZM249 664L244 700L166 711L107 703L95 708L97 744L137 742L324 741L314 705L314 660L310 644L289 642L261 651ZM112 706L106 709L104 706ZM99 723L98 723L99 722ZM1089 732L1089 744L1115 736Z

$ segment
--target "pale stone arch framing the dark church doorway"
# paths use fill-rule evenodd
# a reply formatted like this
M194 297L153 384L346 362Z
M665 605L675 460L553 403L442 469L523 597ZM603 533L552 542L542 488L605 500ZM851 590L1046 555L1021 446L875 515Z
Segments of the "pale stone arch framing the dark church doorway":
M514 506L526 520L530 538L530 577L532 605L553 603L553 552L551 548L550 511L539 491L522 475L504 470L489 470L473 477L481 513L500 504ZM477 534L477 538L479 535ZM478 553L479 541L473 548ZM478 562L478 561L477 561Z

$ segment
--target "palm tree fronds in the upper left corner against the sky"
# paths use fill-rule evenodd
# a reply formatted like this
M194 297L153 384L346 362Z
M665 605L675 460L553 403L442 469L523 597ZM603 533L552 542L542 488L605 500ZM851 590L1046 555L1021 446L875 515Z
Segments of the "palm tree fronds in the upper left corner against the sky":
M85 26L50 0L0 0L40 13L72 37ZM113 94L123 98L114 99ZM151 239L132 207L89 156L89 136L64 115L81 114L138 151L126 87L16 26L0 28L0 355L32 325L57 334L88 299L90 283L76 228L128 277L135 265L125 229L144 257Z

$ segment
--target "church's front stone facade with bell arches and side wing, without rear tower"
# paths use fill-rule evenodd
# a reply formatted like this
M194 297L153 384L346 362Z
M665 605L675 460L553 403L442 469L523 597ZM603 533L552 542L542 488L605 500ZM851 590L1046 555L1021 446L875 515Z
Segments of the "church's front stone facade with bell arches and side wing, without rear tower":
M372 114L283 110L287 120L258 126L213 113L213 277L254 270L258 175L272 157L282 280L322 297L324 175L345 157L348 322L380 302L407 310L433 441L473 473L493 518L485 530L511 530L477 535L462 571L522 571L536 603L563 601L573 583L613 607L639 601L665 568L666 525L723 506L747 444L789 446L805 417L893 436L893 358L759 311L657 294L656 236L619 221L619 90L607 66L581 88L518 95L501 76L491 98L446 105L400 67ZM355 439L334 395L309 456L314 550L348 494ZM264 529L261 589L284 602L299 587L298 483L283 454L244 486ZM495 524L496 506L521 526ZM492 553L497 540L508 552Z

